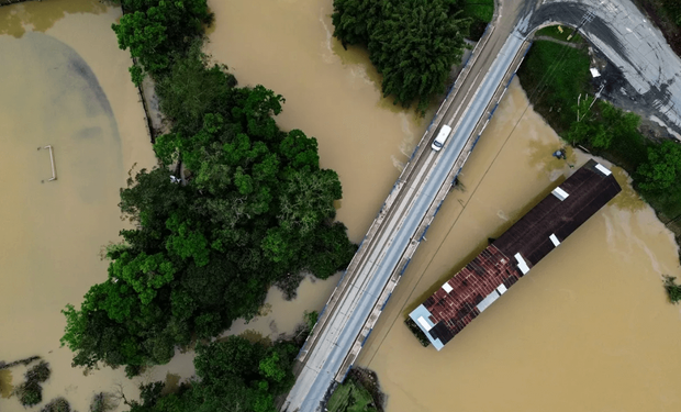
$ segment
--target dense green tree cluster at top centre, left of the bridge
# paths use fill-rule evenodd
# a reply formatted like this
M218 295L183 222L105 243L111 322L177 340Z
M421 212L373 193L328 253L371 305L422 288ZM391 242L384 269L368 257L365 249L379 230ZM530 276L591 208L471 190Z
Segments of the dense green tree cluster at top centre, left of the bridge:
M456 0L334 0L334 36L364 45L383 75L383 96L424 111L460 62L469 19Z

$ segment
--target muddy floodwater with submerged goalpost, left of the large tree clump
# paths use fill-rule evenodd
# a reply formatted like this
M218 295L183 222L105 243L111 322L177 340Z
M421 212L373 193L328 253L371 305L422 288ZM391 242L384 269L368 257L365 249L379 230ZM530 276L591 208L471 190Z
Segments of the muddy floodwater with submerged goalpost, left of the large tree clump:
M110 27L119 16L89 0L0 8L0 360L42 356L53 369L44 400L65 396L79 411L114 382L134 397L138 385L122 369L86 377L59 347L59 311L107 278L100 252L124 227L116 204L127 170L155 164L131 60ZM2 398L25 370L0 371ZM14 398L0 409L23 410Z

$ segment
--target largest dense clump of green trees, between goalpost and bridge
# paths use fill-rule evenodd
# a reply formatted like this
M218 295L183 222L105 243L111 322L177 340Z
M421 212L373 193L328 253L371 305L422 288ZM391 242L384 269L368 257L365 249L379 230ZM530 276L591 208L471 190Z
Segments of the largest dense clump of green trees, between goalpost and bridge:
M200 41L170 34L199 30L198 0L125 5L147 8L147 16L155 7L188 14L182 22L164 18L172 23L164 40L170 63L153 73L172 129L154 145L159 166L131 176L121 190L121 211L134 227L107 248L108 280L86 293L80 309L64 310L62 342L75 352L75 366L126 365L134 375L169 361L192 338L253 318L271 285L292 294L301 272L333 275L356 246L334 223L343 192L337 174L320 168L316 140L275 122L283 98L263 86L236 87L225 66L209 63ZM149 53L139 56L147 69Z

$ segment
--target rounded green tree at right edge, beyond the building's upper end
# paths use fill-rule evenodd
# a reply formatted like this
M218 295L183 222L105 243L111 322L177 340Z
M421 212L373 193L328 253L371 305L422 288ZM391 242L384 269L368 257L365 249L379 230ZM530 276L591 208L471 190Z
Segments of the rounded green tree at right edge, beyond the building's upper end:
M659 192L669 189L681 178L681 146L665 141L648 148L648 162L636 170L639 188L645 191Z

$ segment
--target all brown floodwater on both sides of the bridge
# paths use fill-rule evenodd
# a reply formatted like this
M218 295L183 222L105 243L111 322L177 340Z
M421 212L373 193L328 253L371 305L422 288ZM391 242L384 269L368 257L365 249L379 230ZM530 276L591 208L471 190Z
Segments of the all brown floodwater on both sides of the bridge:
M359 242L431 119L381 98L366 53L331 37L332 2L209 1L206 45L242 86L263 83L287 99L279 124L319 138L323 167L338 171L338 219ZM78 304L107 276L102 245L116 240L119 188L130 168L154 165L127 52L111 23L120 10L91 0L0 8L0 360L40 355L53 367L44 399L65 396L87 411L92 394L130 398L144 381L177 385L193 374L192 353L127 380L123 370L89 376L59 348L59 310ZM85 33L85 34L83 34ZM552 131L526 108L517 83L464 169L359 359L379 372L389 411L678 410L678 309L661 274L681 275L676 246L652 212L625 190L535 267L446 349L424 349L402 325L434 285L458 270L539 197L580 166L550 153ZM511 133L513 132L513 133ZM53 145L57 180L52 177ZM624 183L626 178L616 171ZM299 299L270 290L261 315L228 333L290 333L305 310L323 307L337 277L305 279ZM0 371L0 409L25 368ZM489 391L495 396L490 397ZM123 408L120 408L123 410Z

